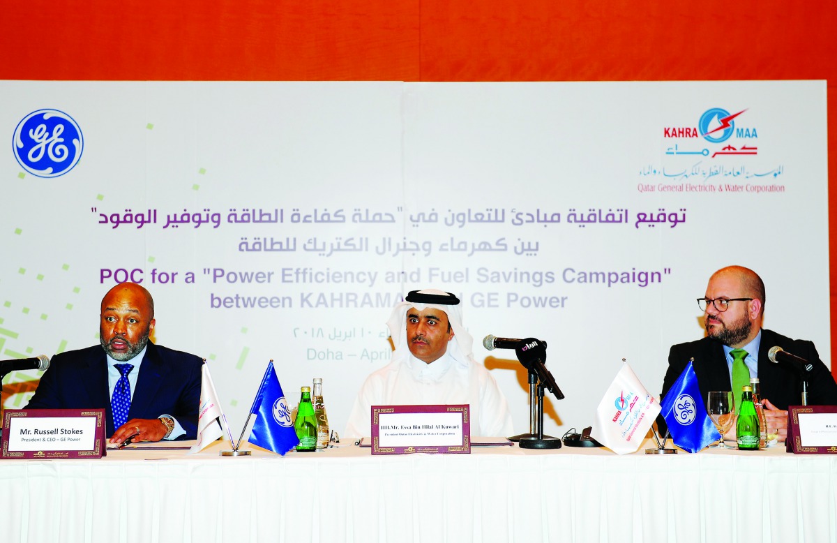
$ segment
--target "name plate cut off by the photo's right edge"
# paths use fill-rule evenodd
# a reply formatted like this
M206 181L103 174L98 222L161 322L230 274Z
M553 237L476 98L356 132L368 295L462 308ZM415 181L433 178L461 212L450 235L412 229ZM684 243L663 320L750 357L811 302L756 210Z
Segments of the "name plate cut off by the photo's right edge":
M837 453L837 406L788 407L785 450L794 454Z

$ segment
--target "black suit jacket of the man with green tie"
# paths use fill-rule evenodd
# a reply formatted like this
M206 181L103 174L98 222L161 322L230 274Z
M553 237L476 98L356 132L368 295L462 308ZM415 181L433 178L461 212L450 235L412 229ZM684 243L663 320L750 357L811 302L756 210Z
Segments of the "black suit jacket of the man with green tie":
M814 364L808 383L808 403L810 405L837 405L837 384L834 377L819 359L817 349L810 341L790 339L776 334L771 330L762 330L762 343L758 346L758 382L761 386L762 397L773 403L779 409L802 404L802 381L796 371L783 364L774 364L768 359L768 350L778 345L788 353L796 354ZM715 339L699 339L690 343L673 345L669 352L669 369L665 372L663 392L665 397L671 385L680 377L689 359L695 359L692 365L697 375L697 384L701 389L701 397L706 403L706 396L710 390L732 390L730 373L727 368L727 357L720 341ZM741 399L741 391L737 391L736 403ZM665 421L660 416L657 419L660 431L665 432Z

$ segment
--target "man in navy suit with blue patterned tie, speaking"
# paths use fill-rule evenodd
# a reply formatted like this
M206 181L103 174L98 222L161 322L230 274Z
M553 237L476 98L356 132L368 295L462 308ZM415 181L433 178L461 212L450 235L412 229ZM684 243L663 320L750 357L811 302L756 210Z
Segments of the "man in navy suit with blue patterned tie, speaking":
M56 354L26 408L104 408L113 443L197 437L203 360L152 344L155 323L145 288L111 288L101 303L101 345Z

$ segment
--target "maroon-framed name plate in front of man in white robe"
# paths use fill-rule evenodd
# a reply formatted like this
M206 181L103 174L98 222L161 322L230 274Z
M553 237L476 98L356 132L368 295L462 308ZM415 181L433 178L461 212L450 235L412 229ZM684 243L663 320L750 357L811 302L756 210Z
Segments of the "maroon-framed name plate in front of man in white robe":
M469 406L372 406L372 454L470 453Z

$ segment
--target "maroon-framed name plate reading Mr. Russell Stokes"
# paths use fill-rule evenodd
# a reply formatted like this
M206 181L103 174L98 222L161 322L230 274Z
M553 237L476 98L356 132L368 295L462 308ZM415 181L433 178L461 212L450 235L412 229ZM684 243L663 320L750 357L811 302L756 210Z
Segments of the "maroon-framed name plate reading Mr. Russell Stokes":
M101 458L104 409L30 409L3 412L0 458Z

